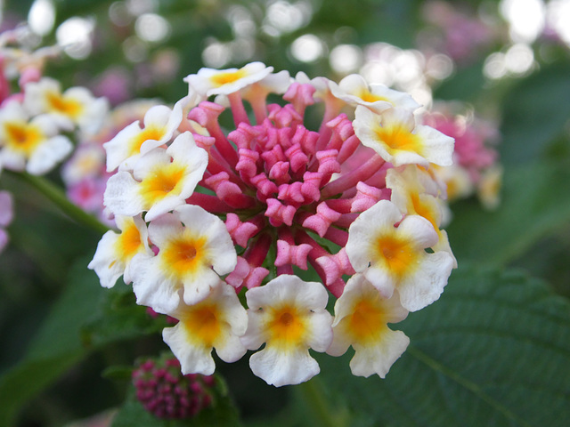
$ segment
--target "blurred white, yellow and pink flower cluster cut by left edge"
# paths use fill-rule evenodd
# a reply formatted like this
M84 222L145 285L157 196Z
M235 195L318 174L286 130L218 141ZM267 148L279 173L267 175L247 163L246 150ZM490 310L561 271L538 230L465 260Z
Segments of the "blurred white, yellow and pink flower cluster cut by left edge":
M46 60L60 49L29 51L19 43L18 30L0 34L0 173L44 175L51 172L81 141L99 132L108 102L85 87L67 90L44 76ZM12 220L12 196L0 193L0 226ZM0 250L8 241L0 229Z

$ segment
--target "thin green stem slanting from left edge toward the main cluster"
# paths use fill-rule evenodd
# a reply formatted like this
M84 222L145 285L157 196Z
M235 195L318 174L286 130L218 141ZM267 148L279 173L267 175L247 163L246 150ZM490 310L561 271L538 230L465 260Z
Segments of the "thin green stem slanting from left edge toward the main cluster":
M3 171L3 173L10 173L12 176L20 179L21 181L28 182L29 185L37 189L45 197L50 199L54 205L57 205L63 214L66 214L70 219L78 222L98 233L105 233L110 228L97 220L93 215L87 214L79 206L74 205L65 196L65 193L53 182L46 180L42 176L30 175L29 173L14 173L10 171Z

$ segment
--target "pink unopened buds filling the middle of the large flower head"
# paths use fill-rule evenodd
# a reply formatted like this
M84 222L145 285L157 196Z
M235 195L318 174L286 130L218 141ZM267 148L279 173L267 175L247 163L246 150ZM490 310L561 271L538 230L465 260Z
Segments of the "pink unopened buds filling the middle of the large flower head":
M208 151L200 185L216 193L194 193L188 202L225 214L234 243L245 248L226 278L238 289L262 284L270 273L262 264L275 246L278 275L311 265L339 296L345 285L342 275L354 270L344 251L330 254L322 239L345 246L346 230L358 214L389 198L389 190L364 182L377 173L383 181L386 162L362 148L346 114L325 120L320 132L305 127L305 109L314 103L314 92L314 85L292 83L283 95L289 103L268 105L256 124L250 123L241 100L230 95L236 128L227 137L218 122L224 106L202 101L188 115L190 123L208 131L205 136L194 126L192 133ZM366 151L366 159L337 178L357 149Z

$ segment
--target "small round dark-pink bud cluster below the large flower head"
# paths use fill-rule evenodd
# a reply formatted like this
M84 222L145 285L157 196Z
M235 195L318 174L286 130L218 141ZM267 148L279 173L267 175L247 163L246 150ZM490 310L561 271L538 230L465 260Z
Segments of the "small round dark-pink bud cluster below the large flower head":
M182 375L174 357L145 359L133 371L136 399L151 414L162 419L185 419L212 404L214 376Z

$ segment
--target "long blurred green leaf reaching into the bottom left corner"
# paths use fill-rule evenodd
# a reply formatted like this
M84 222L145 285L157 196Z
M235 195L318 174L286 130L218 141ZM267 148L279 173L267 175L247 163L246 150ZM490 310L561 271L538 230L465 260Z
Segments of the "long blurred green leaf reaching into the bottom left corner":
M29 343L24 359L0 377L0 420L13 423L29 399L65 374L90 351L111 342L157 330L143 307L134 303L130 286L103 289L90 259L79 258L68 285Z

